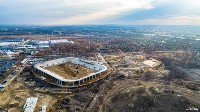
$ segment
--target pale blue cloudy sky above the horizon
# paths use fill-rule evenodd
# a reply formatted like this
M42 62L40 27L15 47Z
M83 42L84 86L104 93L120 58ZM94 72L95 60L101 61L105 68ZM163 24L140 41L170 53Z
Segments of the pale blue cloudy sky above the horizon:
M0 0L0 24L200 25L200 0Z

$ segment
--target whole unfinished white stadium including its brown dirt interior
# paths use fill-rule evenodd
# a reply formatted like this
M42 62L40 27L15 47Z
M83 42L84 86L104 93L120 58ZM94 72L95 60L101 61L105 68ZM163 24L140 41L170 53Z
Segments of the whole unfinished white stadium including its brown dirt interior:
M107 72L107 67L96 61L74 57L46 61L34 66L35 73L54 85L76 87L100 79Z

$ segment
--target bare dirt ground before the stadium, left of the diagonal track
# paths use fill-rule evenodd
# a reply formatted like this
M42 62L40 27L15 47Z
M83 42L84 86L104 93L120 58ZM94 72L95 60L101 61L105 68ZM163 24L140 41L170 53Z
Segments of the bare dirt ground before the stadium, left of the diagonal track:
M0 92L0 112L23 112L23 106L29 97L38 97L35 112L43 105L47 106L47 112L81 112L92 99L93 92L98 91L96 85L94 83L73 88L69 92L69 88L48 84L33 74L24 72Z

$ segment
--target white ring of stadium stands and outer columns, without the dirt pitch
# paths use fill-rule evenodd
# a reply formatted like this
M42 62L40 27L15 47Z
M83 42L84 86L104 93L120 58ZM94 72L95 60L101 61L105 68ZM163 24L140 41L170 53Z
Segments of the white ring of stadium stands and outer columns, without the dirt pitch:
M73 64L77 64L92 70L95 70L95 73L90 73L82 78L75 79L67 79L57 73L49 71L45 69L46 67L56 66L60 64L64 64L66 62L71 62ZM45 78L49 78L53 80L54 84L61 87L76 87L83 85L85 82L93 80L102 74L106 73L107 67L96 61L88 61L74 57L66 57L60 58L56 60L46 61L44 63L39 63L34 66L37 74L44 76Z

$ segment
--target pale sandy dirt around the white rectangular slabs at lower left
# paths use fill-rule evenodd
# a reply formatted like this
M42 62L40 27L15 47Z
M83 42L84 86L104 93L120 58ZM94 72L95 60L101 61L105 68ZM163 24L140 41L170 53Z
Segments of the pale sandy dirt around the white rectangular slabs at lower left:
M20 75L20 77L23 76ZM25 84L25 77L17 78L4 91L0 92L0 112L23 112L23 106L28 97L38 97L36 112L43 105L47 106L47 112L51 112L53 104L61 96L37 92L35 89ZM66 96L68 95L64 97Z

